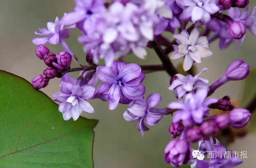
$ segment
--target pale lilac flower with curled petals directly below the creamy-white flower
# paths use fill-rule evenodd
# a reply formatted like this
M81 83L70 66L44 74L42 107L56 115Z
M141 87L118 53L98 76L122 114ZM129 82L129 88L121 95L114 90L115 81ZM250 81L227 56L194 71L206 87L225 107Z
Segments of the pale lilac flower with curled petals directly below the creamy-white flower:
M207 79L198 77L206 70L208 69L203 68L203 70L194 77L190 74L188 74L187 76L176 74L175 76L177 76L178 79L174 80L168 89L174 90L174 94L178 97L178 99L184 96L186 92L191 92L193 90L196 90L196 88L209 89L209 81Z

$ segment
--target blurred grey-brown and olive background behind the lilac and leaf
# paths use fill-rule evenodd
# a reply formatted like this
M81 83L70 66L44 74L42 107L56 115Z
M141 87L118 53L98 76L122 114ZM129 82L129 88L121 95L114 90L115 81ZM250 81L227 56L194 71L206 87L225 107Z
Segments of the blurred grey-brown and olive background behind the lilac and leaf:
M250 2L250 11L256 5L256 1ZM36 37L34 32L38 28L46 27L48 21L54 22L55 17L63 16L64 12L73 10L74 2L71 0L1 0L0 1L0 69L21 76L28 81L34 76L43 73L46 65L35 55L36 45L32 43L32 39ZM71 36L67 43L76 53L79 61L86 64L85 53L82 45L77 42L80 36L78 30L71 29ZM202 64L196 64L196 73L202 68L209 68L201 77L208 78L210 84L215 82L225 73L229 63L237 59L245 60L251 69L256 68L255 57L255 40L256 36L252 36L248 31L246 40L240 50L236 50L235 44L232 44L227 50L220 51L218 40L211 44L210 50L213 55L203 60ZM46 44L53 53L63 51L60 45ZM148 49L146 60L139 60L135 56L127 57L127 62L135 62L137 64L160 64L160 60L153 50ZM173 63L178 66L181 60L175 60ZM76 64L72 63L75 68ZM255 74L255 73L254 73ZM251 73L250 78L256 76ZM78 72L71 74L78 76ZM162 95L162 102L159 108L166 107L176 98L172 91L168 90L170 77L163 72L156 72L146 75L143 84L147 91L145 96L156 92ZM252 83L253 84L253 83ZM255 83L254 83L255 85ZM247 88L248 89L248 88ZM50 84L42 89L49 97L59 92L59 79L52 79ZM234 81L220 87L212 96L222 98L229 95L237 107L245 107L248 101L241 104L244 93L244 82ZM251 91L253 95L255 91ZM98 119L99 124L95 130L94 141L94 165L95 168L169 168L169 164L164 161L164 148L171 140L168 128L172 122L171 116L164 118L150 130L145 132L142 138L140 132L136 129L136 123L128 123L123 118L123 113L128 105L119 104L118 107L111 111L108 109L108 102L101 100L89 100L94 107L95 113L82 113L86 118ZM58 112L58 111L56 111ZM256 114L254 114L256 115ZM60 114L60 117L61 114ZM250 125L249 125L250 126ZM246 136L237 138L233 143L229 144L228 149L233 151L247 151L247 159L240 166L246 168L254 168L256 134L250 127Z

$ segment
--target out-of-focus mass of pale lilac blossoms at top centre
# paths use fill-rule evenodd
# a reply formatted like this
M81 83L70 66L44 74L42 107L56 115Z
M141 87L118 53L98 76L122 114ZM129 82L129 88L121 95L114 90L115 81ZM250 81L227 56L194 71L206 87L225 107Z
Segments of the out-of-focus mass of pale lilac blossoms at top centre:
M84 52L94 49L93 62L96 64L100 57L110 67L114 59L132 52L145 59L145 47L153 40L153 25L158 21L156 9L154 5L127 3L124 6L114 2L97 24L97 32L80 36L78 41L84 44Z

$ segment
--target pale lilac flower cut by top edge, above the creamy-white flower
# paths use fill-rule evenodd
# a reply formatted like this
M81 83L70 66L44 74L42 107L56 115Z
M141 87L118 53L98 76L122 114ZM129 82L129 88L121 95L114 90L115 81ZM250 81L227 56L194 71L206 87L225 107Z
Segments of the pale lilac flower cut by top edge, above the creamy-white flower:
M198 20L208 23L211 20L211 14L220 11L217 6L217 0L177 0L177 4L184 9L180 14L181 20Z

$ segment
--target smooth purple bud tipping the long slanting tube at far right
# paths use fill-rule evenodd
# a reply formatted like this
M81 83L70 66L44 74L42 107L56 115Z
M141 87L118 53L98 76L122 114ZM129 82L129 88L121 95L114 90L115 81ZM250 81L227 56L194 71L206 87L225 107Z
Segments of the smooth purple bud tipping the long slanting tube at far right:
M249 75L250 66L243 60L235 60L232 62L227 70L226 76L228 80L242 80Z

